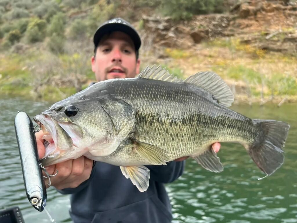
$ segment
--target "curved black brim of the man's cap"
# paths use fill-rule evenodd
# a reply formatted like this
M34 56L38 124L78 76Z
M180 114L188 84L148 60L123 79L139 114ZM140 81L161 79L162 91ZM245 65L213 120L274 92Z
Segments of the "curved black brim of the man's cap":
M124 32L127 35L129 35L129 37L131 37L134 43L135 50L138 50L140 48L141 40L136 30L122 23L108 23L99 27L99 29L97 29L96 33L94 34L93 41L94 41L95 47L97 47L98 43L100 42L100 40L105 34L116 32L116 31Z

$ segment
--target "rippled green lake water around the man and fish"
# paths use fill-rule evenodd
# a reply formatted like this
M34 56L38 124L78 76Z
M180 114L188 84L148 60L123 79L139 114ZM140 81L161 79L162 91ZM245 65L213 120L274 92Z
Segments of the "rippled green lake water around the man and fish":
M25 222L50 222L36 211L26 197L13 120L17 111L30 117L50 104L0 99L0 209L18 205ZM212 173L188 159L184 175L166 186L173 208L173 223L293 223L297 222L297 105L265 107L232 106L248 117L282 120L291 125L285 146L285 163L273 175L265 176L244 147L223 143L218 156L224 166ZM47 190L46 208L56 222L71 222L69 196Z

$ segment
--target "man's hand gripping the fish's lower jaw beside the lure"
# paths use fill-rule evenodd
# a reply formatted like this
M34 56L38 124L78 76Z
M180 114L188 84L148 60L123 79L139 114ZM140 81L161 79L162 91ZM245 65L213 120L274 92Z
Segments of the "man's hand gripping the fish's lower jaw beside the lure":
M43 158L45 155L45 147L42 139L43 135L42 131L36 133L39 158ZM55 174L56 169L58 170L58 174L51 177L50 181L52 186L58 190L62 190L64 188L75 188L83 183L83 181L89 179L92 166L92 160L86 158L85 156L81 156L77 159L70 159L62 163L45 167L45 169L50 175ZM45 183L45 185L48 188L48 184Z

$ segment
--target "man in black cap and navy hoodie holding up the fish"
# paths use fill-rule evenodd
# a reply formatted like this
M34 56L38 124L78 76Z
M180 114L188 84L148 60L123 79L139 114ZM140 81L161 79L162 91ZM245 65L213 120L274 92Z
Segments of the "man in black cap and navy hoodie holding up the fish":
M95 51L92 70L97 81L132 78L140 71L138 50L141 45L136 30L121 18L105 22L94 34ZM42 133L37 133L39 156L44 156ZM219 144L213 145L215 151ZM53 174L51 184L62 194L71 194L72 220L76 222L171 222L171 206L164 183L181 176L184 159L167 165L148 166L149 188L140 192L119 167L96 162L82 156L47 167Z

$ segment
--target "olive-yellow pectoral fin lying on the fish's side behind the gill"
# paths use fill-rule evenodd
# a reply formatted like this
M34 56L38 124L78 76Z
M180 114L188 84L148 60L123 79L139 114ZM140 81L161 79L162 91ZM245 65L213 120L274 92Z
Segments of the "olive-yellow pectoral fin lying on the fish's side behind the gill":
M169 162L169 152L146 142L132 139L136 144L135 151L153 165L166 165Z

